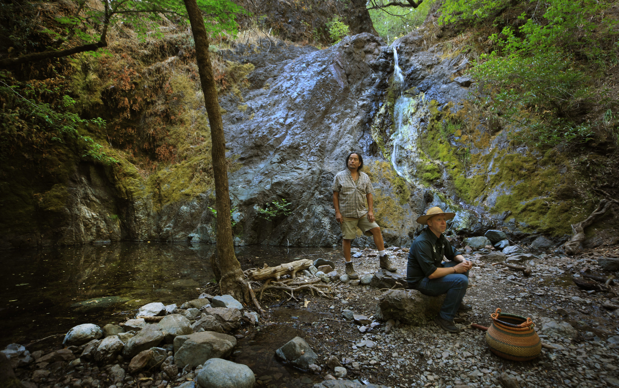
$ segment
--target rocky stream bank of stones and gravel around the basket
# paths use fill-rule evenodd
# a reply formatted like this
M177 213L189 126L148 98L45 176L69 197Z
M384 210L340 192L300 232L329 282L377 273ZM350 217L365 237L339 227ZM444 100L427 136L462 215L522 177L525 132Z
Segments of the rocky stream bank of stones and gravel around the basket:
M318 276L332 293L290 298L267 291L266 319L253 306L202 288L191 301L149 303L120 321L78 325L62 344L46 338L2 353L28 388L619 386L619 300L612 278L609 287L574 284L616 274L619 247L567 257L550 247L503 254L492 245L472 248L475 242L452 241L475 264L465 296L474 308L457 318L459 334L432 323L431 301L420 301L421 309L419 303L400 308L399 300L417 291L399 289L407 249L391 247L396 273L378 270L376 251L356 249L357 281L344 275L339 254L324 255L336 263L334 271L310 267L299 277ZM531 275L505 263L528 267ZM487 326L496 308L534 320L547 345L538 358L515 362L490 353L484 333L470 324Z

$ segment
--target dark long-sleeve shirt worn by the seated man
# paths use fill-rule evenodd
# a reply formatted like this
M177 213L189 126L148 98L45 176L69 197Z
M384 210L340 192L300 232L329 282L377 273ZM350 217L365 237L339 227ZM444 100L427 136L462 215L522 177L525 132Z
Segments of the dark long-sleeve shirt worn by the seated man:
M461 253L449 244L445 236L441 234L436 237L433 231L426 227L410 246L409 264L406 269L409 288L417 287L424 277L429 277L437 268L442 268L443 257L452 260L459 254Z

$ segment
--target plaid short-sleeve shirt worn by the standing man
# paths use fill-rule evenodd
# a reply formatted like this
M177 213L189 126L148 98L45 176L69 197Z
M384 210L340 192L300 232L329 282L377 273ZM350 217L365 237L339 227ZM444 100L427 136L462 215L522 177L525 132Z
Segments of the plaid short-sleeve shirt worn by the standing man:
M350 170L340 171L333 178L331 190L339 192L340 213L344 217L361 218L368 213L365 208L365 196L372 194L374 188L366 173L359 171L357 184L355 184L352 175L350 175Z

